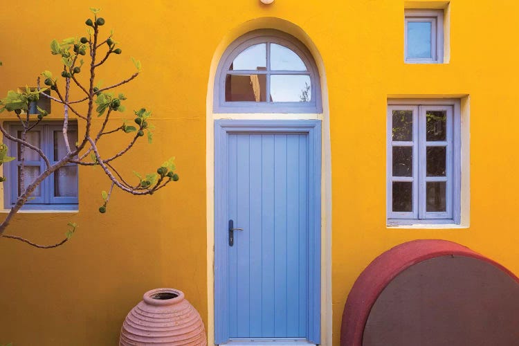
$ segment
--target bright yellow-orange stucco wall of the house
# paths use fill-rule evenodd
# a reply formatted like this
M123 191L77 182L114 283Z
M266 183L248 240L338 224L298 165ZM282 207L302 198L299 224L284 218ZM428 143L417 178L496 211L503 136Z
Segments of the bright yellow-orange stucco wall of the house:
M423 1L413 1L411 4ZM60 71L51 39L84 35L89 6L102 8L122 55L100 71L104 85L143 74L121 88L131 109L154 111L153 145L133 152L147 170L176 156L179 183L152 197L116 192L100 215L109 183L98 168L80 168L80 211L18 215L8 233L41 242L80 225L51 251L0 239L0 344L115 345L122 320L144 291L182 289L208 322L206 249L206 98L222 40L246 21L277 17L299 26L326 72L331 138L331 283L333 345L349 289L380 253L410 239L459 242L519 274L516 223L519 181L515 100L519 48L514 1L450 1L450 62L403 64L404 1L44 1L10 2L0 19L0 95ZM445 1L426 1L444 6ZM409 5L409 3L408 3ZM303 37L300 37L303 39ZM325 93L326 95L326 93ZM470 226L385 226L385 113L388 97L463 98L470 131ZM468 107L470 105L470 108ZM468 112L470 109L470 112ZM54 113L55 115L55 113ZM2 114L3 120L6 120ZM122 138L116 144L122 145ZM123 171L136 168L127 158ZM468 167L465 167L467 169ZM145 171L145 169L141 170ZM468 170L467 170L468 172ZM465 215L466 216L466 215Z

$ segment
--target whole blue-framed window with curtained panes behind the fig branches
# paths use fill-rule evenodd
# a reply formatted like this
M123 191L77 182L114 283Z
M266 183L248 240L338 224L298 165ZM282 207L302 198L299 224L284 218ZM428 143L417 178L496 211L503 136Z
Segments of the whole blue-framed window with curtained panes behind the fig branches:
M8 124L8 131L12 136L21 138L21 125ZM29 143L42 149L51 164L56 163L66 154L66 147L62 134L62 125L54 122L44 125L37 125L27 133ZM69 143L73 145L78 141L78 127L69 124ZM9 154L15 160L4 165L4 175L7 178L4 183L5 208L11 208L17 201L20 194L19 187L19 166L20 166L20 145L6 139L9 146ZM37 152L26 147L24 161L25 183L28 185L41 172L45 170L45 162ZM57 209L57 210L77 210L78 209L78 166L68 164L48 176L33 192L33 195L26 202L24 209Z

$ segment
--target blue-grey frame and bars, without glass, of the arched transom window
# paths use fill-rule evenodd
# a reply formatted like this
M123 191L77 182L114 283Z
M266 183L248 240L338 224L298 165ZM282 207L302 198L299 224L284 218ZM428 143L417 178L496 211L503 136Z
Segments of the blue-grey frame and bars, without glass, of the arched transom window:
M225 82L226 75L230 64L235 60L235 57L242 53L247 48L254 46L255 44L266 44L267 46L267 69L266 71L260 72L260 74L267 75L290 75L298 74L300 71L271 71L269 67L269 57L271 43L280 44L286 48L291 49L297 54L304 64L307 66L308 71L305 74L310 76L311 82L311 100L310 102L227 102L225 99ZM239 71L241 73L247 71ZM258 71L248 71L250 73L257 74ZM266 93L270 92L267 86ZM322 99L321 99L321 88L319 72L316 66L316 62L304 44L298 39L283 33L279 30L264 29L254 30L247 33L235 40L227 48L224 55L222 55L220 63L217 68L215 77L215 87L213 94L213 111L214 113L322 113Z

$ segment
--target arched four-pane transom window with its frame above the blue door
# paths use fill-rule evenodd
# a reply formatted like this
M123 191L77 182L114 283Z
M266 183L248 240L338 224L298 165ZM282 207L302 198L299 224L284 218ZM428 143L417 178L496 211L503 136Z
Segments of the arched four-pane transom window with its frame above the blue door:
M216 113L320 113L320 83L308 49L277 30L239 37L222 57Z

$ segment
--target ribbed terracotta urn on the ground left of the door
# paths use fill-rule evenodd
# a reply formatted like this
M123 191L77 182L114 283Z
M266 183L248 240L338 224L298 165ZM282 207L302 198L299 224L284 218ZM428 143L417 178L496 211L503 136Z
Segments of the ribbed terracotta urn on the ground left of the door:
M119 345L207 345L206 330L182 291L152 289L126 316Z

